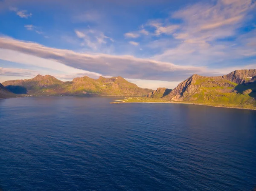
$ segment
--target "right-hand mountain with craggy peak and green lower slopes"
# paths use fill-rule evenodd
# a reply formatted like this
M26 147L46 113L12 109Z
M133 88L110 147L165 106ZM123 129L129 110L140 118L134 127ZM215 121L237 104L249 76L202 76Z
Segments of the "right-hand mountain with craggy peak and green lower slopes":
M194 74L163 99L211 105L256 105L256 70L236 70L218 77Z

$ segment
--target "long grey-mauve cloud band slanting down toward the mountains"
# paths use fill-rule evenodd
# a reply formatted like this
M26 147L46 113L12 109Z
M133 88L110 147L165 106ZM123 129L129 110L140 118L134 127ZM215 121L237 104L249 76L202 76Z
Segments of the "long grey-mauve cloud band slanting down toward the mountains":
M34 64L35 62L24 58L24 55L30 54L35 58L44 58L41 61L42 66L57 66L51 62L62 63L68 67L78 68L86 71L96 72L106 76L121 75L126 78L145 79L145 80L184 80L192 74L218 75L223 74L221 70L212 70L206 67L197 66L178 66L173 63L161 62L150 59L141 59L133 56L109 55L109 54L90 54L78 53L71 50L58 48L49 48L38 43L23 42L8 37L0 37L0 59ZM12 50L7 56L6 51ZM25 53L21 57L18 52ZM31 62L30 62L31 61Z

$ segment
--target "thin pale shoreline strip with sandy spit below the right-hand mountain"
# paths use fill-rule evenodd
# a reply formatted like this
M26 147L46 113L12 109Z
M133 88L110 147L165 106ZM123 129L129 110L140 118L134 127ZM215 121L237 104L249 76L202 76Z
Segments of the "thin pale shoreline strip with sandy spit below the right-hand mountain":
M118 104L118 103L180 103L180 104L192 104L192 105L204 105L204 106L210 106L210 107L215 107L215 108L233 108L233 109L247 109L247 110L252 110L256 111L256 108L240 108L240 107L229 107L229 106L218 106L218 105L207 105L207 104L201 104L201 103L187 103L187 102L125 102L123 100L113 100L113 101L119 101L119 102L111 102L111 104Z

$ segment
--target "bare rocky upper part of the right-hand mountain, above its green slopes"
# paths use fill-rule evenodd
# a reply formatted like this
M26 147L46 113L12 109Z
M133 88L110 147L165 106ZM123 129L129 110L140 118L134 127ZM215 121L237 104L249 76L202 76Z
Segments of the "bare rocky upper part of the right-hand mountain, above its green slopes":
M230 74L218 77L204 77L197 74L180 83L168 95L166 100L195 101L209 100L212 95L224 96L227 93L242 93L254 95L253 87L256 84L256 70L236 70ZM246 91L251 88L252 91ZM252 97L252 96L251 96Z

